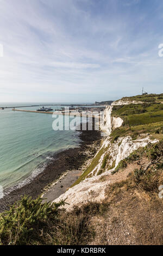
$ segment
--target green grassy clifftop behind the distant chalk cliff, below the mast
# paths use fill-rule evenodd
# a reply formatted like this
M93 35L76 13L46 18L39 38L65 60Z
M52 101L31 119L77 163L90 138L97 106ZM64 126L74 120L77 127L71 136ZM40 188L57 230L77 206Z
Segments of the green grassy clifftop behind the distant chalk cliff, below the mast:
M127 135L130 135L134 139L141 133L150 133L153 138L163 138L163 104L158 102L160 98L163 101L163 96L160 96L163 94L152 95L124 97L122 99L141 100L145 102L149 98L151 101L155 99L154 102L137 105L120 105L112 108L112 115L121 117L124 120L124 126L111 133L113 141L120 136Z

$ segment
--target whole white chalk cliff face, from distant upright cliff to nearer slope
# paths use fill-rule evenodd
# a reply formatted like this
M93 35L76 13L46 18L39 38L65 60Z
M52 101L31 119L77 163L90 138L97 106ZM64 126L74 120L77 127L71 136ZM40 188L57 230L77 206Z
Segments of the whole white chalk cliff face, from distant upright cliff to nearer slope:
M114 105L114 104L113 104ZM116 142L112 143L110 140L110 133L116 127L120 127L123 124L123 120L121 118L111 117L112 106L108 106L104 112L104 122L103 122L103 130L106 131L106 137L102 144L101 149L97 152L94 159L97 159L97 156L100 154L98 162L91 170L89 175L86 176L85 180L80 182L80 184L70 188L65 194L62 194L59 198L55 199L54 202L59 202L59 200L63 199L69 205L66 205L66 209L72 209L74 205L82 205L83 203L89 201L100 202L105 198L105 188L109 185L109 179L103 179L106 175L109 175L111 172L115 170L118 163L128 157L130 153L134 150L145 147L148 143L156 143L155 139L152 141L148 135L142 134L136 140L133 140L130 136L120 137ZM104 172L101 173L102 164L104 157L106 157L106 165L104 168Z

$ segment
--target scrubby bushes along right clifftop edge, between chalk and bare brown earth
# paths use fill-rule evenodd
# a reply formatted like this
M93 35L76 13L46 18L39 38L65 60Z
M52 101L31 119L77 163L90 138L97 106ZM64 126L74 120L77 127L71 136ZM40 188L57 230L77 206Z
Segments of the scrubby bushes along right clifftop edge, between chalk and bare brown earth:
M134 169L134 172L128 175L128 179L111 185L109 191L120 192L120 188L125 187L126 190L137 188L150 193L159 193L158 188L163 184L163 139L158 143L148 144L145 148L133 151L118 164L115 173L126 168L127 164L141 161L145 157L149 160L146 168L140 165L139 169Z

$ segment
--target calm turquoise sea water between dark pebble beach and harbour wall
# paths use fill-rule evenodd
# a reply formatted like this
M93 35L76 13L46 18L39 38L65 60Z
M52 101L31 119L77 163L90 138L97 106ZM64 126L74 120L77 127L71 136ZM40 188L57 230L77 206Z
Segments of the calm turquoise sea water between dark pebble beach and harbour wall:
M22 106L20 103L12 105ZM41 172L58 150L78 146L78 132L54 131L53 121L51 114L0 109L0 185L3 188L20 184L30 175Z

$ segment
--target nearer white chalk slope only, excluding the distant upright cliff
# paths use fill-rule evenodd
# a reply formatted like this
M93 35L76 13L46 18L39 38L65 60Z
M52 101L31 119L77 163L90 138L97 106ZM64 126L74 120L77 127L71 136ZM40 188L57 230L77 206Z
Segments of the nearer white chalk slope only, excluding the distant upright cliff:
M118 144L120 142L121 146L118 147ZM137 141L131 141L130 137L126 137L123 139L118 139L116 143L111 145L110 142L106 140L103 143L102 147L105 146L106 148L105 154L110 153L110 164L115 162L114 168L110 170L106 168L104 173L102 173L101 175L97 175L99 169L101 169L104 157L103 154L96 166L96 173L94 173L94 175L91 178L86 178L84 181L80 182L80 184L70 188L68 191L66 191L66 193L62 194L59 198L55 199L54 202L59 202L61 199L66 199L66 202L68 204L66 204L64 207L67 210L71 210L74 205L81 206L82 204L87 202L102 202L102 200L105 199L105 189L109 184L111 184L111 178L108 178L106 180L105 178L107 176L109 177L109 174L115 170L117 164L122 159L129 156L129 154L133 152L133 150L136 150L139 147L145 147L149 142L155 143L157 141L151 141L151 139L149 139L148 137L141 138ZM95 169L92 170L92 174L93 172L95 172Z

